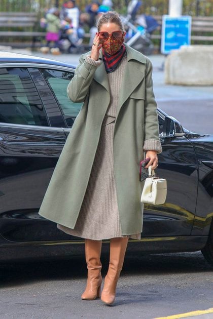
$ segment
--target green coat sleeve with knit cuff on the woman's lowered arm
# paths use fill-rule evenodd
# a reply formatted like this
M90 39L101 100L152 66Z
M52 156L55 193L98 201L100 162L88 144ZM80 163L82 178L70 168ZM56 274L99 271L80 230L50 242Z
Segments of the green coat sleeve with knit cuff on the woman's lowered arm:
M152 81L152 63L147 60L146 69L146 92L145 92L145 138L143 149L156 150L162 152L162 146L159 138L159 125L157 114L157 103L153 92Z

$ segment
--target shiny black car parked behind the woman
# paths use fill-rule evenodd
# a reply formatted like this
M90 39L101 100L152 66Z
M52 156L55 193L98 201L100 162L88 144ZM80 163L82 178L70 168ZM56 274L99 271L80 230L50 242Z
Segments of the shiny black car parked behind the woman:
M82 105L66 95L75 67L8 52L0 61L0 261L72 257L83 240L38 211ZM167 199L145 205L141 241L129 247L201 250L213 265L213 136L190 132L160 109L158 116L156 173L167 180Z

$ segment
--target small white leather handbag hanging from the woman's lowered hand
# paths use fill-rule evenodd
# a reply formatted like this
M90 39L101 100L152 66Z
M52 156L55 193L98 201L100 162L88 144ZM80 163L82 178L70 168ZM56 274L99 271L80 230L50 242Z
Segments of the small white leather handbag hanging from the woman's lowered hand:
M166 179L155 176L152 166L149 166L149 177L146 178L140 202L145 204L160 205L166 201Z

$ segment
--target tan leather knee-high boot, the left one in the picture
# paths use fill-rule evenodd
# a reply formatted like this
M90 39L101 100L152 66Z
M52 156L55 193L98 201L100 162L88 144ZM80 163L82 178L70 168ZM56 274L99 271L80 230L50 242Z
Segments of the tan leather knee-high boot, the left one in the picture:
M101 288L101 241L85 240L85 257L88 269L87 286L81 298L83 300L94 300L100 298Z

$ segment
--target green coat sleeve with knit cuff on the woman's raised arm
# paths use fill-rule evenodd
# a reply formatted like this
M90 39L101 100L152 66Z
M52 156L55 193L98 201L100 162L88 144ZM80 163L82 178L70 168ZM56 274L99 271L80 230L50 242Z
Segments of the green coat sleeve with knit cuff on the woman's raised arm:
M89 91L93 75L101 61L95 61L88 55L84 60L81 56L75 75L68 84L67 95L73 102L84 102Z

